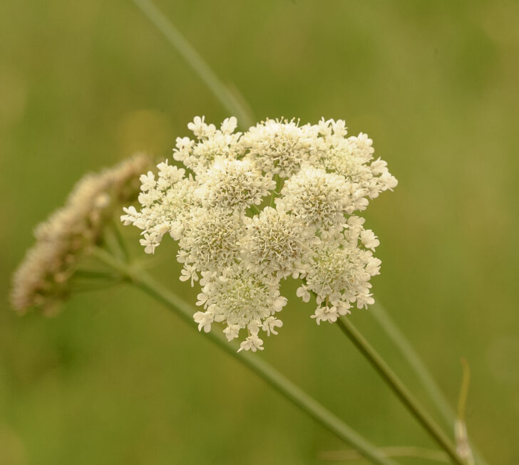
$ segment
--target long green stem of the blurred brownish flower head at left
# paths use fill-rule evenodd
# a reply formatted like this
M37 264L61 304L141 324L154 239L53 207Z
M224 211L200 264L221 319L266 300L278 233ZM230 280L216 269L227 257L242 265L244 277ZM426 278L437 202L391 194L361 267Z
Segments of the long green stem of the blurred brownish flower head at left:
M140 288L145 293L148 293L148 295L160 303L163 303L180 316L180 318L189 323L190 326L195 328L192 321L193 309L191 305L183 301L183 299L178 297L175 293L160 286L148 273L133 268L103 249L94 248L92 254L98 258L99 261L108 266L108 268L120 274L126 281ZM396 465L394 461L379 451L376 446L371 444L367 439L364 439L364 437L354 431L354 429L351 429L351 427L342 422L339 417L336 417L336 415L322 404L319 404L313 397L310 397L297 385L294 385L292 381L284 377L284 375L271 367L267 362L264 362L251 352L238 353L236 351L236 345L229 343L225 336L220 333L212 331L202 334L212 340L212 342L218 345L222 350L225 350L229 355L235 357L236 360L241 362L252 372L255 372L269 385L274 387L275 390L289 399L290 402L297 405L297 407L309 414L310 417L317 420L317 422L335 434L336 437L339 437L339 439L354 447L354 449L359 451L366 459L369 459L374 464Z

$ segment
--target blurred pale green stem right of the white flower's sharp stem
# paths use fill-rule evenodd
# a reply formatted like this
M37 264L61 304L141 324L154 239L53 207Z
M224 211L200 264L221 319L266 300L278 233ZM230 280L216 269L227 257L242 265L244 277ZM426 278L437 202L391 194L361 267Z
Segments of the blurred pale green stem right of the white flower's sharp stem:
M389 313L386 312L384 306L380 303L372 305L369 309L369 313L374 316L379 325L384 329L386 335L388 335L389 339L394 343L394 345L396 345L396 348L400 351L401 355L404 356L404 359L408 362L408 365L421 382L423 389L426 390L429 397L431 397L431 400L436 405L445 426L452 428L456 421L456 414L453 412L453 409L449 405L445 395L441 392L440 387L438 387L438 384L428 371L423 360L421 360L419 355L416 353L416 350L414 350L411 343L409 343L404 333L402 333L394 320L392 320ZM476 463L480 465L488 465L481 452L478 451L473 444L471 444L471 449L476 456Z

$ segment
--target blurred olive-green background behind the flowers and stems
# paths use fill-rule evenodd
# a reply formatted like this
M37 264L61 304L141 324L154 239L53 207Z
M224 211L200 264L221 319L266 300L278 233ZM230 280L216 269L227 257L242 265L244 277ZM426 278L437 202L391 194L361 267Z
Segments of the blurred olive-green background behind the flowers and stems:
M366 213L376 297L452 404L466 357L469 432L490 464L519 463L519 3L158 6L257 119L344 118L373 137L399 179ZM136 150L169 156L202 114L227 116L130 1L1 1L0 465L313 464L345 448L138 291L78 295L51 319L9 309L31 230L76 180ZM172 246L156 261L194 298ZM376 444L433 446L339 329L287 293L261 356ZM369 312L351 318L430 406Z

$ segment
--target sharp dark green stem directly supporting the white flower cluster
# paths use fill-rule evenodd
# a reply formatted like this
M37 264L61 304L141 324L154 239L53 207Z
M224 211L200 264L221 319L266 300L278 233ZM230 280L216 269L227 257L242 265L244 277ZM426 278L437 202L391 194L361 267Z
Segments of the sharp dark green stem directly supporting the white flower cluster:
M349 340L356 346L364 357L371 363L379 375L391 387L393 392L406 406L406 408L413 414L424 429L435 439L435 441L446 451L451 457L452 461L458 465L466 465L466 462L458 456L456 446L454 446L451 439L438 427L433 418L426 412L425 409L418 403L415 397L407 389L401 380L396 376L393 370L387 365L384 359L378 352L369 344L359 330L355 328L349 318L341 317L337 320L339 328L348 336Z

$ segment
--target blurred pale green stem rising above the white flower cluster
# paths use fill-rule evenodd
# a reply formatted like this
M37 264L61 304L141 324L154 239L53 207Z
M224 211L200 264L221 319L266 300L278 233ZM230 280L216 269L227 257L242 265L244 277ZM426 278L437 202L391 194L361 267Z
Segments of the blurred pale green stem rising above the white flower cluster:
M168 42L187 61L187 64L200 76L217 100L235 115L240 127L248 128L254 124L250 110L242 104L227 86L222 83L216 73L210 68L175 25L150 0L132 0L140 11L145 14Z

